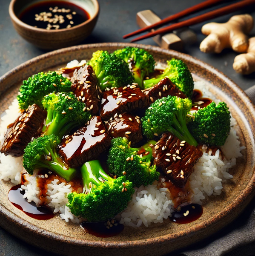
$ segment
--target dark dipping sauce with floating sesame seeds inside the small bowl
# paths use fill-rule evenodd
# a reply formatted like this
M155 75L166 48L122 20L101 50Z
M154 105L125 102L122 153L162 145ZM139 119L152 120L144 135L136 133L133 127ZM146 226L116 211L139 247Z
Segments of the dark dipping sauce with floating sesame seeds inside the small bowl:
M66 1L42 1L26 8L19 16L24 23L40 29L66 29L89 20L80 6Z

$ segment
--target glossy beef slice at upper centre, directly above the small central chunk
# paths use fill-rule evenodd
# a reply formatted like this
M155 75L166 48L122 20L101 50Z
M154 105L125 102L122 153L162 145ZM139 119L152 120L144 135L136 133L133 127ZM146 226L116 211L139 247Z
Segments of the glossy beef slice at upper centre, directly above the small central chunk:
M100 107L100 116L108 121L115 114L132 112L149 106L149 97L137 85L128 85L105 91Z

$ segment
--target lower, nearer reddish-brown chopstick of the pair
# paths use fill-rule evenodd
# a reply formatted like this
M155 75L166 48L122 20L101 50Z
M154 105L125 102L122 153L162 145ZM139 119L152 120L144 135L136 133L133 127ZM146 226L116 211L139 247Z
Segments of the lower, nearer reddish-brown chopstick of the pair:
M201 14L197 17L190 18L189 20L184 20L184 21L181 21L179 23L172 24L172 25L167 26L163 29L158 29L154 32L150 32L150 33L148 33L146 35L142 35L140 37L136 37L135 39L131 40L131 42L136 42L136 41L139 41L139 40L143 40L145 38L153 37L155 35L171 32L175 29L180 29L184 26L191 26L191 25L194 25L194 24L206 21L206 20L210 20L210 19L215 18L215 17L219 17L221 15L229 14L230 12L235 12L235 11L240 10L241 8L245 7L245 6L249 6L249 5L252 5L252 4L255 4L255 0L243 0L243 1L238 2L238 3L233 3L229 6L225 6L225 7L222 7L220 9L216 9L214 11L207 12L205 14Z

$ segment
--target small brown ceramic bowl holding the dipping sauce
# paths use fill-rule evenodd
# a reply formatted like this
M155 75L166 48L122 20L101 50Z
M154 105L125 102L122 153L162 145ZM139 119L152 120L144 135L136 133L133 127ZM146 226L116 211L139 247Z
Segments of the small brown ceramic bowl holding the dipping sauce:
M64 0L85 9L90 16L89 20L71 28L59 30L40 29L30 26L18 18L21 12L31 4L42 1L44 2L45 0L11 0L9 5L11 21L18 34L41 49L60 49L76 45L88 37L96 25L99 14L97 0Z

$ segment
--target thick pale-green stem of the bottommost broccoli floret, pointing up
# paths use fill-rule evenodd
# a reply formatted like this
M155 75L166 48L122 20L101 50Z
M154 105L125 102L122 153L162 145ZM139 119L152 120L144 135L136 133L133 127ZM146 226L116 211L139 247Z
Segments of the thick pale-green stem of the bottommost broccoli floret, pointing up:
M106 181L113 180L113 178L104 172L99 160L93 160L83 164L80 168L80 173L86 190L89 190L92 184L95 186L101 184L102 181L100 181L99 178L103 178Z

